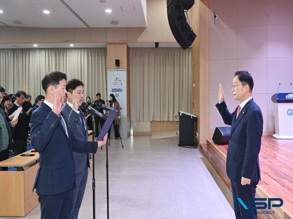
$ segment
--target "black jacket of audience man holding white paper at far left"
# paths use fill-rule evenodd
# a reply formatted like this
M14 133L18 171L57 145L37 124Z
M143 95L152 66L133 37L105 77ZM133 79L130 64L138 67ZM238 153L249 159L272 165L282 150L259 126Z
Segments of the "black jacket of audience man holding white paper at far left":
M12 104L9 111L8 115L11 115L15 110L17 110L19 107L16 106L15 104ZM26 139L28 136L28 118L27 115L25 114L24 109L22 109L22 113L19 115L19 121L16 124L13 132L13 138L14 139Z

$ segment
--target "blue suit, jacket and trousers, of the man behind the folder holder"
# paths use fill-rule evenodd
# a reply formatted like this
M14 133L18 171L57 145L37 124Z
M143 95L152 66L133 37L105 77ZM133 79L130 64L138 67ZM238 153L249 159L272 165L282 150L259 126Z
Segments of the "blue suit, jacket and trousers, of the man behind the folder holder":
M62 108L62 115L65 117L65 121L69 123L75 123L75 120L68 120L70 112L72 108L66 103ZM80 118L77 120L77 125L68 124L70 131L74 135L74 137L78 140L87 141L87 125L84 119L84 113L80 111ZM82 120L84 124L82 124ZM81 207L83 198L84 198L84 190L87 181L87 175L89 167L89 154L77 153L73 152L73 157L75 161L75 188L73 189L73 199L71 205L71 219L77 219L79 209Z

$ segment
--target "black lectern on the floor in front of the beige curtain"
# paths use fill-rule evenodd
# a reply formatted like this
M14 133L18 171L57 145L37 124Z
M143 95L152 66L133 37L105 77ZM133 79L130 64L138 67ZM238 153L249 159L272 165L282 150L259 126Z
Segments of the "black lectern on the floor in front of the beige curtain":
M178 146L196 148L197 145L197 116L187 112L179 111Z

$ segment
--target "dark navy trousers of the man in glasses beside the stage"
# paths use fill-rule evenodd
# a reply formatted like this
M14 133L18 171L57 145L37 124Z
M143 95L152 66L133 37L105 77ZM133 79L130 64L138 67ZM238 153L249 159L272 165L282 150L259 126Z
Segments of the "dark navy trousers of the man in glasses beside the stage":
M232 187L234 212L236 219L257 219L256 209L245 209L237 198L240 198L246 206L249 206L248 202L255 198L255 190L257 183L251 183L249 185L242 185L235 181L230 180Z

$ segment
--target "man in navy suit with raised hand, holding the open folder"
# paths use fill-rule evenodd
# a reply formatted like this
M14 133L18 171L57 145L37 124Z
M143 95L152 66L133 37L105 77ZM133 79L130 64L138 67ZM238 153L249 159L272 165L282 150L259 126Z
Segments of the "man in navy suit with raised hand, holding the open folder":
M75 96L68 126L61 113L66 79L66 74L61 72L50 72L43 77L45 100L31 117L31 142L40 154L40 168L33 189L37 189L42 219L70 219L75 186L72 151L85 154L92 151L91 143L76 139L70 131L80 119ZM105 145L106 137L95 143L95 152L98 146Z

